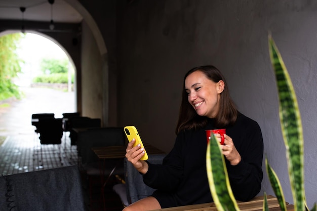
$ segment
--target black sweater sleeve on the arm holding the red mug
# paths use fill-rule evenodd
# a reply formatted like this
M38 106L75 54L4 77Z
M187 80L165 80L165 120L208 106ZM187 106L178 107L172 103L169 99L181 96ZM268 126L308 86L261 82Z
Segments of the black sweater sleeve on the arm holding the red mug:
M226 160L227 171L233 194L237 200L247 201L255 197L261 189L263 179L263 138L257 122L245 117L238 127L243 133L232 138L241 162L230 165Z

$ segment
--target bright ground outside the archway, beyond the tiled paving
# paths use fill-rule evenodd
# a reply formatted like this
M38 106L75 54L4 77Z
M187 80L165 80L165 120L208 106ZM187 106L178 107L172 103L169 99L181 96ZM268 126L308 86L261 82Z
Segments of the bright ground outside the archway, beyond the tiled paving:
M62 113L75 111L74 92L62 92L47 88L21 88L25 97L21 100L9 100L10 107L0 107L0 136L33 134L31 125L33 113Z

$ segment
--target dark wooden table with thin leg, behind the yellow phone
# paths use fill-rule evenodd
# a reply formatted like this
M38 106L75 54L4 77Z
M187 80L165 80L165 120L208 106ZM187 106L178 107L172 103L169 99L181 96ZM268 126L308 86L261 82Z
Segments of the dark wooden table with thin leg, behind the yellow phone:
M143 145L144 145L144 149L146 153L149 156L151 154L165 154L164 151L157 149L156 147L150 144L144 143ZM126 157L126 149L127 149L127 146L107 146L107 147L93 147L92 148L92 150L95 152L95 154L99 158L100 177L101 177L101 183L102 183L101 194L103 198L104 210L106 210L105 208L106 205L104 200L104 188L117 166L117 165L113 166L109 176L107 177L106 180L104 180L105 162L107 159L118 159L118 162L122 162L122 159Z

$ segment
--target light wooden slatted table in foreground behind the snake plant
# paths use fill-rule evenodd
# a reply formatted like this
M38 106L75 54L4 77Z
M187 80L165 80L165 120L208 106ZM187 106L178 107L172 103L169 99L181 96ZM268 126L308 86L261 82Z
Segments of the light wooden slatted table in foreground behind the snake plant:
M274 196L267 196L268 208L270 211L280 211L280 204L278 199ZM257 196L251 201L241 202L237 201L237 204L241 211L255 211L255 210L263 210L263 196ZM203 204L194 204L187 206L176 206L170 208L163 209L155 209L152 211L216 211L217 207L215 203L203 203ZM287 203L287 210L293 211L294 205Z

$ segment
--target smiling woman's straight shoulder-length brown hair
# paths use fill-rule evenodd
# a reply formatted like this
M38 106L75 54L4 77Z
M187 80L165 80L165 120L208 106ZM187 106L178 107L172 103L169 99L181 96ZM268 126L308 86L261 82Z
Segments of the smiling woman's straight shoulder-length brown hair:
M207 117L198 115L194 108L188 102L188 94L185 90L185 79L189 74L195 71L203 72L207 76L207 78L216 83L219 80L223 80L225 84L224 90L220 94L219 111L214 121L214 125L216 126L216 128L222 128L223 126L233 124L237 117L237 109L230 98L227 82L221 72L212 65L195 67L189 70L184 76L182 101L179 109L176 134L183 130L197 130L207 124Z

